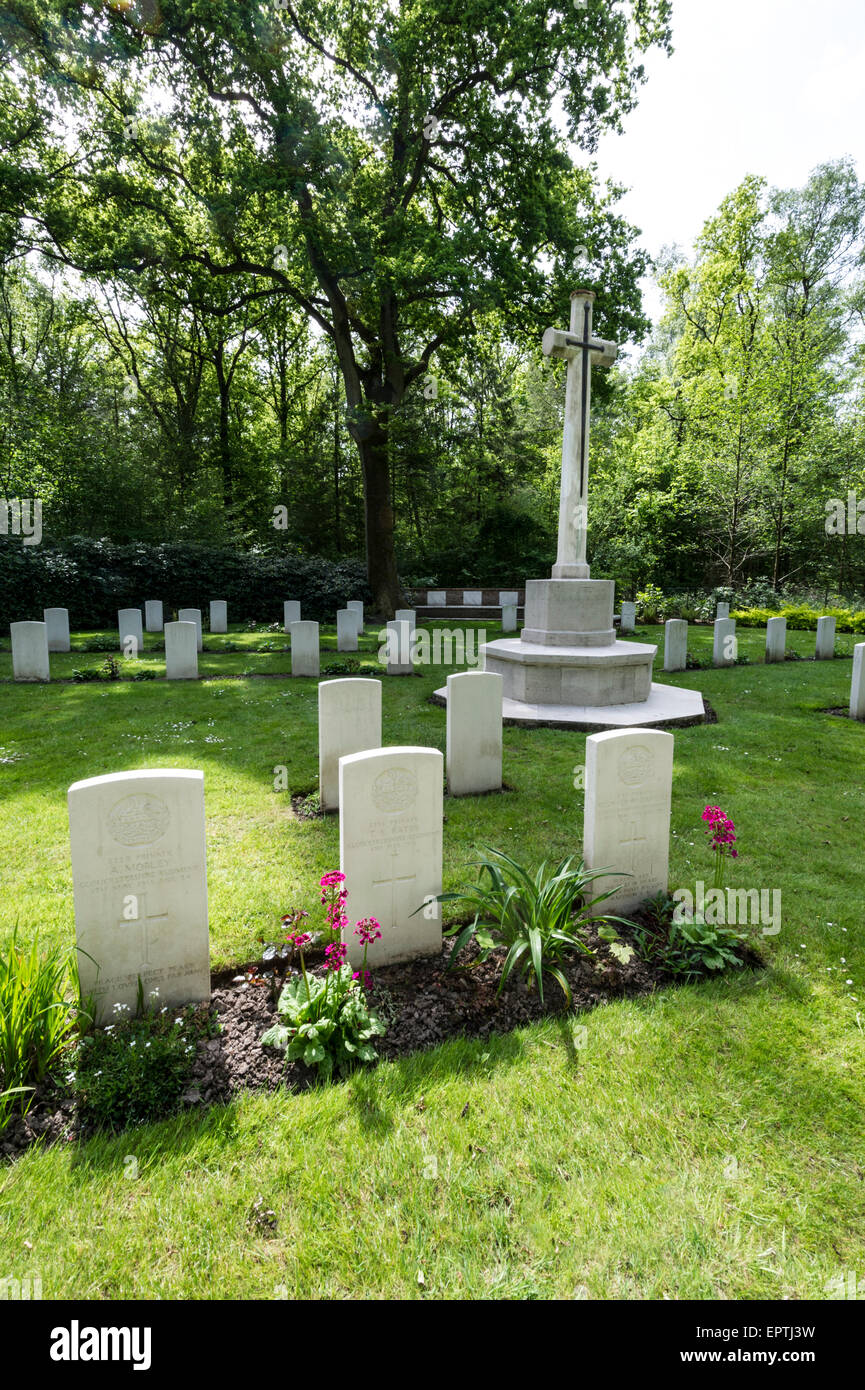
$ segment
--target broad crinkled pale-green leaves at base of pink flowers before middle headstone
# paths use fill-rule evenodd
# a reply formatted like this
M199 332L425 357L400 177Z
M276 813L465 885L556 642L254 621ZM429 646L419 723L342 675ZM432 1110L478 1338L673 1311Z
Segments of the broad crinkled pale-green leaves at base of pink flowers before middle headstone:
M300 1061L318 1069L330 1081L362 1062L375 1061L371 1038L385 1026L370 1008L366 990L352 980L352 967L342 965L324 976L291 976L280 995L274 1023L261 1037L264 1047L285 1052L286 1061Z

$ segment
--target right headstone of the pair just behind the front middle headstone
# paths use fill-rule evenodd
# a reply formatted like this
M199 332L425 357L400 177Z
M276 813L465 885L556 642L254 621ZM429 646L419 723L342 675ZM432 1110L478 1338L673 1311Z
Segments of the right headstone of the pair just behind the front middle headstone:
M502 677L448 676L448 791L471 796L502 787Z

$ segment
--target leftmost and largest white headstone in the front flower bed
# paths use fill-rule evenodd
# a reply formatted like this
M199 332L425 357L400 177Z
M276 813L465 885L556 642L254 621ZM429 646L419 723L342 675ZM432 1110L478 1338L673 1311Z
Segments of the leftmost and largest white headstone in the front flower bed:
M97 1020L135 1012L139 977L146 1004L209 999L204 774L90 777L68 803L78 970Z

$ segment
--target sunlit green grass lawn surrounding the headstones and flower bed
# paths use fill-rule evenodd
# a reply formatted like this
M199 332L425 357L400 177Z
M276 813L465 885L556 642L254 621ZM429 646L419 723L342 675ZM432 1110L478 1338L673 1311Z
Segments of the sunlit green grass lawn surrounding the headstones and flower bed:
M819 713L847 705L848 660L763 666L765 631L738 637L754 664L659 676L719 717L676 733L670 887L711 878L700 816L720 803L740 835L729 883L782 890L766 972L605 1006L580 1019L580 1049L573 1020L551 1020L33 1151L0 1169L0 1276L38 1273L46 1298L825 1298L840 1273L865 1279L865 727ZM204 771L214 967L317 902L338 824L295 820L274 791L280 766L292 792L317 785L316 681L288 677L285 641L206 638L203 674L273 680L47 687L8 682L6 644L3 938L18 923L72 941L67 787L136 767ZM711 641L691 628L694 655ZM323 628L325 666L335 645ZM161 671L153 646L143 663ZM51 673L103 660L51 656ZM385 745L444 751L427 695L446 674L384 680ZM445 802L445 888L478 845L579 853L584 742L505 730L512 791ZM250 1218L259 1197L275 1232Z

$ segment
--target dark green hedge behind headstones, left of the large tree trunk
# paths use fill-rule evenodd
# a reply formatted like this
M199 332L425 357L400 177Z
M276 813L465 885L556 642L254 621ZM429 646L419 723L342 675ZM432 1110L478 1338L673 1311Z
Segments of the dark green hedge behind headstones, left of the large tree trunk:
M286 552L232 550L192 542L117 545L71 537L25 546L0 537L0 635L8 624L40 620L46 607L70 610L74 631L117 627L117 610L161 599L165 613L225 599L234 621L282 620L285 599L305 617L335 620L349 599L371 602L359 560L323 560Z

